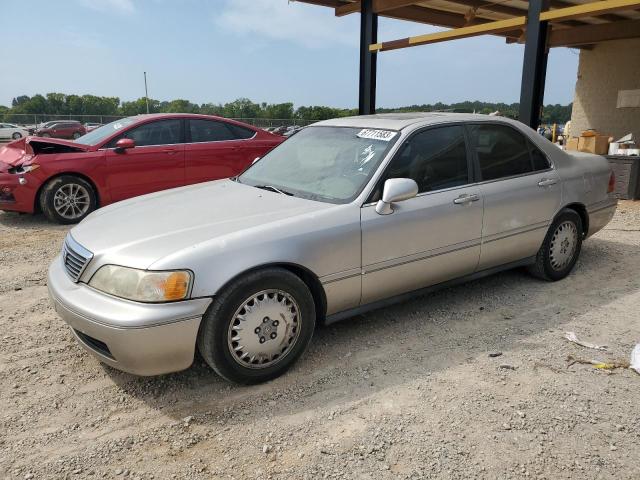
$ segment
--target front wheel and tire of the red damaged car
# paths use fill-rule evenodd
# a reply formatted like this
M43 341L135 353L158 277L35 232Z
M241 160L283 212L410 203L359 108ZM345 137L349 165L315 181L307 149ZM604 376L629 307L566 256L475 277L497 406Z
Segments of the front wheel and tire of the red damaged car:
M49 180L40 193L40 208L52 222L78 223L97 207L93 186L83 178L62 175Z

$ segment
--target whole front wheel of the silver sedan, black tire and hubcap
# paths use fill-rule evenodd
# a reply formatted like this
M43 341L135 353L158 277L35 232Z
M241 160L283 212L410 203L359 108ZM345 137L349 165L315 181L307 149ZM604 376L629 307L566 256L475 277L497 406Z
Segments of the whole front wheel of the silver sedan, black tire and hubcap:
M259 270L216 295L200 326L198 350L231 382L265 382L304 353L315 317L313 297L299 277L282 268Z

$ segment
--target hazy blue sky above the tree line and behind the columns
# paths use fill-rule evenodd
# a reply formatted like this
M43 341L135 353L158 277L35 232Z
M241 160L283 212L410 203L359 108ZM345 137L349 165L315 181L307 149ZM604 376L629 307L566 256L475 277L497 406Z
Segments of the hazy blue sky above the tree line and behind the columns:
M158 100L357 107L358 14L288 0L0 0L0 11L0 105L47 92L133 100L146 71ZM378 40L436 30L380 18ZM377 104L517 102L523 51L482 36L382 52ZM551 51L546 104L572 101L577 64L576 50Z

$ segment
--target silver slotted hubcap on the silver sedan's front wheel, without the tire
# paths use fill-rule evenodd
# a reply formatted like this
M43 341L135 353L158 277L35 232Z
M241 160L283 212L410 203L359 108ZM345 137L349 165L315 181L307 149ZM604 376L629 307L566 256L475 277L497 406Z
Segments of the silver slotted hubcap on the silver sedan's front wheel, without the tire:
M247 298L233 315L227 341L243 367L267 368L281 361L300 336L300 309L282 290L263 290Z

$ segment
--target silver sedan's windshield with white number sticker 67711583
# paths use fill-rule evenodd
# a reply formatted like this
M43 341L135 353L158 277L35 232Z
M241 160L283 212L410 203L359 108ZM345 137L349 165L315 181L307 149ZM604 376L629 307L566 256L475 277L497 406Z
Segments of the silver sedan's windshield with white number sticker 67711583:
M249 167L237 181L311 200L348 203L369 182L397 133L307 127Z

